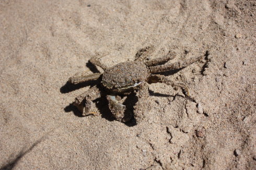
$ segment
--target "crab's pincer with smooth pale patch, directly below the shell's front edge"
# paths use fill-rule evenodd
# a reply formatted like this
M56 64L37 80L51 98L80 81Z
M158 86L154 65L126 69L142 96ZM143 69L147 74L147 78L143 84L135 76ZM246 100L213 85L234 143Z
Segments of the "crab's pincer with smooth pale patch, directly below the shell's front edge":
M120 122L128 122L132 118L132 111L126 108L125 105L121 104L115 95L107 95L109 102L109 108L115 119Z

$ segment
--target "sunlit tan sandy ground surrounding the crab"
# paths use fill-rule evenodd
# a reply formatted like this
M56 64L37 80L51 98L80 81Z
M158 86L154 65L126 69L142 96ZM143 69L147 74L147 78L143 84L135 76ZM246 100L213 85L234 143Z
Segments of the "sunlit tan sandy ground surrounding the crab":
M255 16L255 1L2 0L1 169L255 169ZM204 56L166 74L196 102L155 83L137 125L72 109L93 84L66 82L91 56L113 66L148 45Z

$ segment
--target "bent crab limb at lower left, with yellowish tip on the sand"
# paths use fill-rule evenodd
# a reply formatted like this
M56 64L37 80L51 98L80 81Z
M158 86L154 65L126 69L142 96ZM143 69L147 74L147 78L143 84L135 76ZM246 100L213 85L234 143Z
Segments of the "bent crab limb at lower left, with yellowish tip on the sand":
M86 116L88 114L95 114L95 111L92 111L92 106L94 103L93 100L96 100L101 97L100 90L97 86L94 86L87 90L86 92L78 95L73 102L82 116Z

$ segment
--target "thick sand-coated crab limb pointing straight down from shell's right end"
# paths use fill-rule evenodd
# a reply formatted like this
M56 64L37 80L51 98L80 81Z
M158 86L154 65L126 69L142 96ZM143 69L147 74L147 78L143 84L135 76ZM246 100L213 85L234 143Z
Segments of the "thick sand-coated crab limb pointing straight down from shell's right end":
M134 118L139 123L145 117L145 113L150 110L150 104L148 104L147 98L149 96L148 83L143 83L138 89L137 97L138 101L134 106Z

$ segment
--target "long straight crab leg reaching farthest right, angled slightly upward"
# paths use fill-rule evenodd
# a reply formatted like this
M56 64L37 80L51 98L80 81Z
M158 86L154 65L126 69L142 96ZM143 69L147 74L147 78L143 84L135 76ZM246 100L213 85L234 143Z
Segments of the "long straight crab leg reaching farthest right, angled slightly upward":
M203 56L200 56L200 57L190 58L182 62L153 66L153 67L149 67L149 71L150 73L156 73L156 72L164 72L169 70L180 69L180 68L187 67L188 65L191 65L192 63L202 58Z

